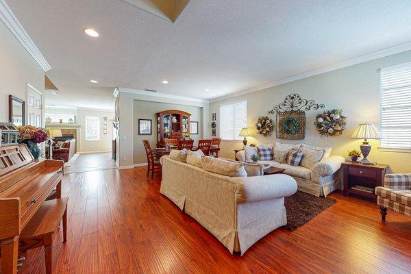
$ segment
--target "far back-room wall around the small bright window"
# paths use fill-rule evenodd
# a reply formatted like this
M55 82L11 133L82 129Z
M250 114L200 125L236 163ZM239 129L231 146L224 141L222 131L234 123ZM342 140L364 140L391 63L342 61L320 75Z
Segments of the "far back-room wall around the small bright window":
M112 119L114 117L114 112L110 110L92 110L92 109L66 109L66 108L46 108L47 113L64 113L73 114L77 118L77 123L82 126L77 128L78 140L77 153L89 153L89 152L102 152L112 150ZM86 117L98 117L100 121L100 140L86 140ZM103 134L103 117L108 117L107 122L107 135Z

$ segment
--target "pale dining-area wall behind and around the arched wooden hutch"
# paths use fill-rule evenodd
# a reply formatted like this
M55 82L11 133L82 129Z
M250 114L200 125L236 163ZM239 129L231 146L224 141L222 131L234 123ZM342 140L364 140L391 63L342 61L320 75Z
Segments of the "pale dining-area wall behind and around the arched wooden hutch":
M134 164L147 162L142 140L149 140L151 147L157 143L157 112L164 110L182 110L191 114L190 121L199 122L199 134L191 134L190 138L197 144L203 138L202 108L194 105L178 105L134 100ZM151 119L151 135L138 135L138 119Z

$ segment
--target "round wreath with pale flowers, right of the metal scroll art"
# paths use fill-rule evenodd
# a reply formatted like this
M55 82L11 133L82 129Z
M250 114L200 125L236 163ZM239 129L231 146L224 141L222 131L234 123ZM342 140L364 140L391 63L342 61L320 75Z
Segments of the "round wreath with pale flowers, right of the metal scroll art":
M343 134L347 117L343 116L343 110L325 110L315 117L315 128L321 136L337 136Z

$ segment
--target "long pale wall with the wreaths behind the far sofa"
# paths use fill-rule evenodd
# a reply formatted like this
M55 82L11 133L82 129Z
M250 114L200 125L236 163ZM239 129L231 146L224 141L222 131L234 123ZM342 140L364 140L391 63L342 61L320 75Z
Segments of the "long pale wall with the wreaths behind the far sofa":
M334 147L333 155L343 155L347 158L347 151L359 149L361 140L351 139L358 123L369 121L379 127L379 69L384 66L401 64L411 61L411 51L391 55L386 58L365 62L345 69L323 73L306 79L283 84L266 90L252 92L223 101L210 103L210 119L213 112L217 113L219 122L219 105L239 100L247 100L247 126L251 129L252 137L249 143L273 142L275 133L270 137L256 134L255 123L260 115L266 115L274 105L284 101L286 95L298 93L303 99L314 99L316 103L325 104L325 109L340 108L347 116L347 127L342 136L321 137L314 129L314 116L321 110L306 112L305 140L278 140L279 142L299 143ZM275 115L269 115L275 119ZM218 124L219 127L219 124ZM217 127L217 129L218 129ZM218 132L218 130L217 130ZM373 146L369 160L381 164L389 164L394 172L411 172L411 153L388 152L378 149L379 141L370 140ZM241 149L241 141L223 141L221 143L221 157L234 158L234 149Z

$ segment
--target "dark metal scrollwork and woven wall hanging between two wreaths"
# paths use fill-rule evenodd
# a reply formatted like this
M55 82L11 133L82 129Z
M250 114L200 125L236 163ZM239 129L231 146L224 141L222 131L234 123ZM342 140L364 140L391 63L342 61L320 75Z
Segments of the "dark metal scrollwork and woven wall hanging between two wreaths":
M295 93L288 95L284 102L275 105L269 114L276 114L275 136L278 139L302 140L306 138L306 111L325 108L314 100L301 99Z

